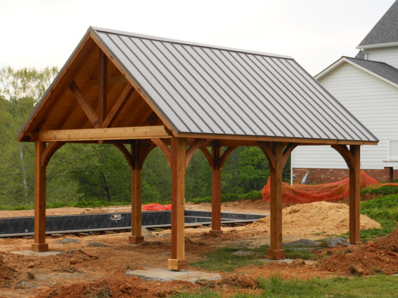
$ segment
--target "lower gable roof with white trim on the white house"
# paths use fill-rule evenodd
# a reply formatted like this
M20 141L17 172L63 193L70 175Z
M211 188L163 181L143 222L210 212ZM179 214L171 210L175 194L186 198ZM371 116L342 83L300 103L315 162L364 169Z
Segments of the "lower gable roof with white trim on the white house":
M334 62L332 65L328 66L328 68L325 68L325 70L323 70L319 74L316 74L315 79L318 80L321 79L325 75L332 72L335 68L340 66L342 63L350 63L352 66L360 68L361 70L364 70L369 74L372 74L373 76L378 77L379 79L382 79L383 81L386 81L387 83L390 83L398 88L397 68L394 68L388 65L387 63L383 62L370 61L370 60L357 59L357 58L344 57L344 56L341 57L336 62Z

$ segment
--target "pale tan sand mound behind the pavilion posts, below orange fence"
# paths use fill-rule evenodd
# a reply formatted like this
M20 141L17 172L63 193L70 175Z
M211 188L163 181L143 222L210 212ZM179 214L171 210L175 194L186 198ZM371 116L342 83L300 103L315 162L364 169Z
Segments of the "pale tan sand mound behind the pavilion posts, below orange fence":
M294 235L333 235L348 232L350 208L343 203L314 202L297 204L282 211L283 233ZM269 229L270 218L265 217L247 229ZM361 229L381 228L380 224L361 215Z

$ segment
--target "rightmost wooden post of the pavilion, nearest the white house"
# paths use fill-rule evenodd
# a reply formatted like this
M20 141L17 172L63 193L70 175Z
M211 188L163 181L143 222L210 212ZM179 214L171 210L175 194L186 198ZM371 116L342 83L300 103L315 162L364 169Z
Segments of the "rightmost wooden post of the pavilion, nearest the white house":
M350 167L350 243L360 244L360 203L361 203L361 147L351 145L352 166Z

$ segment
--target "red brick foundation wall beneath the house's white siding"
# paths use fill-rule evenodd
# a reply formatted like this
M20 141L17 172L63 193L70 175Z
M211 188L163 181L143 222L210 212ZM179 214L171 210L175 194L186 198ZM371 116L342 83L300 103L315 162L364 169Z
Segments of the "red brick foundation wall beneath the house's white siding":
M348 169L325 169L325 168L293 168L293 183L301 183L301 180L308 174L308 183L323 184L339 181L348 178ZM398 170L391 171L391 168L383 168L383 170L363 170L367 175L376 179L381 183L390 182L398 179ZM391 175L392 174L392 175Z

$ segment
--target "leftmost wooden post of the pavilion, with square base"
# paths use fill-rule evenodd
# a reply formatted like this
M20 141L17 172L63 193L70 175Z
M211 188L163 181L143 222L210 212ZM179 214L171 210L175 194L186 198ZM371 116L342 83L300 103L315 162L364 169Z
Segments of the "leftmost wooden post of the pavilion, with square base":
M37 140L35 145L35 242L32 250L46 252L46 166L41 166L46 143Z

